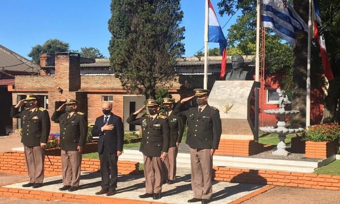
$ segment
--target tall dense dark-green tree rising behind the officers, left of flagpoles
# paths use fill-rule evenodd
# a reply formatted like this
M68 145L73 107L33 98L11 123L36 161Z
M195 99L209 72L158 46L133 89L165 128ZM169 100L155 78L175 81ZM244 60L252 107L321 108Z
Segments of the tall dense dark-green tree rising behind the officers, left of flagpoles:
M174 76L184 54L180 0L112 0L110 64L123 88L155 98L155 88Z

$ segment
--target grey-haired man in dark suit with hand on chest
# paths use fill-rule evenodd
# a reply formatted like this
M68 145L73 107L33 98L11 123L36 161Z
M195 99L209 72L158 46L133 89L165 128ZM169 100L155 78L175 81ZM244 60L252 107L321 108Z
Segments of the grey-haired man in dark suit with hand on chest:
M92 130L92 136L99 136L98 153L102 174L102 189L96 192L96 195L106 193L107 196L112 196L117 188L117 161L123 151L124 129L121 118L111 110L112 102L102 103L104 115L96 119Z

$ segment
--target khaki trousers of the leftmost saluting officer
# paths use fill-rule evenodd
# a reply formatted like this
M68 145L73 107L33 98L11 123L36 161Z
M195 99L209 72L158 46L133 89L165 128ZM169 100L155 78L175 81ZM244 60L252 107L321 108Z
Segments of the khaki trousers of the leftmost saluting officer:
M44 181L44 149L40 146L24 146L24 153L30 183L42 184Z

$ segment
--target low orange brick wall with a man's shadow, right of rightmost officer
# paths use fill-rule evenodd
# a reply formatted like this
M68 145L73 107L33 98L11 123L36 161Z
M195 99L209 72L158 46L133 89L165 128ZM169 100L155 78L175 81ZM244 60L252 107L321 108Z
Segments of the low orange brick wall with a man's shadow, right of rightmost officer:
M213 169L216 181L340 190L340 176L335 175L227 167Z

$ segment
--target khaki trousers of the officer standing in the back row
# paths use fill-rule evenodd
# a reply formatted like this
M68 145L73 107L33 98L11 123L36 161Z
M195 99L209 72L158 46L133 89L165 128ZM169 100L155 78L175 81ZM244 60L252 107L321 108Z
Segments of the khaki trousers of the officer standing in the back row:
M167 157L164 159L164 177L163 180L176 179L176 157L178 153L177 147L170 147Z

